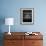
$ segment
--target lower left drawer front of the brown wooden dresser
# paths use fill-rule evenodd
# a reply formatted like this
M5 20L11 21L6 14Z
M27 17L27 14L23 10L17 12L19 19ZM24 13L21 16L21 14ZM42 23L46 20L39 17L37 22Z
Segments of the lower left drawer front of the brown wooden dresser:
M5 40L4 46L23 46L23 40Z

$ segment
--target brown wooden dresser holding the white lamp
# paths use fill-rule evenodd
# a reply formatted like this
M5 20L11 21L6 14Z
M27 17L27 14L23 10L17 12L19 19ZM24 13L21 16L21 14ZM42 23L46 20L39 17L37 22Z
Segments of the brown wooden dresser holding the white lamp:
M25 35L26 32L11 32L8 35L4 33L4 46L43 46L43 35ZM33 32L34 33L34 32Z

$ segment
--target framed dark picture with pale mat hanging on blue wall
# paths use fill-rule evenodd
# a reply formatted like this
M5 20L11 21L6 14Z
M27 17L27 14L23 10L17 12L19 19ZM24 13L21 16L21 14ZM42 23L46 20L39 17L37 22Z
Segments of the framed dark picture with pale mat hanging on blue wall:
M34 23L34 8L20 9L20 23L33 24Z

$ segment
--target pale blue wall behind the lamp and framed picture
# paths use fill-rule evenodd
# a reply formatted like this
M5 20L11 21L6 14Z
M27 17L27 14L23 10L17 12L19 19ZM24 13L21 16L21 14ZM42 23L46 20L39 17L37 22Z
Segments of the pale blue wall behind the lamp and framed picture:
M0 0L0 18L13 17L11 32L40 31L46 35L46 0ZM34 8L34 24L20 24L20 8ZM8 26L0 24L0 32L8 32Z

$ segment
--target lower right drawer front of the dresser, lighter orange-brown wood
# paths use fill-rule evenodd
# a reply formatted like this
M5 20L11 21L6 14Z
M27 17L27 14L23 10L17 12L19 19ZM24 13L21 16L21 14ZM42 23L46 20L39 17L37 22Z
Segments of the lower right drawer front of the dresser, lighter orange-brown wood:
M42 40L25 40L24 46L43 46Z

